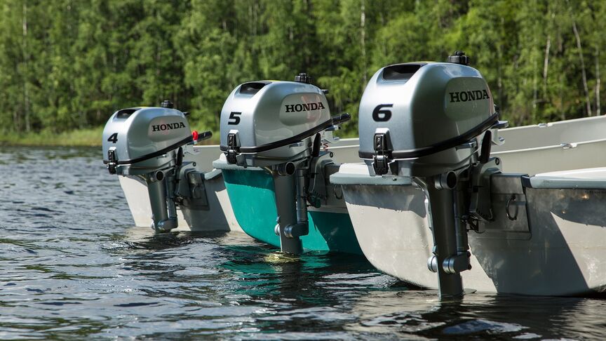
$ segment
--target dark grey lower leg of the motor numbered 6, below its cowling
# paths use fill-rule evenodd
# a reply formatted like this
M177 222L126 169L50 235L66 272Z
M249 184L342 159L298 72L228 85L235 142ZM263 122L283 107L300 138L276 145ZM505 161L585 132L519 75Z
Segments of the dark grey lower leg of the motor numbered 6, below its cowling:
M484 138L489 143L490 133ZM431 272L438 274L440 297L463 295L461 272L471 270L468 230L478 232L478 222L493 220L490 177L501 173L500 161L483 150L471 166L419 181L429 197L433 231Z

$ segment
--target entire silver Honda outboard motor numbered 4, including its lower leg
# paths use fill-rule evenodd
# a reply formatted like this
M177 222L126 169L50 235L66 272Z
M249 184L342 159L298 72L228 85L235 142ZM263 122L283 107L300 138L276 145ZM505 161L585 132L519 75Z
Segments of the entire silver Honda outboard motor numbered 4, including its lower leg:
M177 227L175 201L185 192L177 188L184 176L183 147L211 135L210 131L192 134L185 114L168 101L162 107L121 109L103 130L103 163L111 174L144 180L152 206L152 228L167 232Z

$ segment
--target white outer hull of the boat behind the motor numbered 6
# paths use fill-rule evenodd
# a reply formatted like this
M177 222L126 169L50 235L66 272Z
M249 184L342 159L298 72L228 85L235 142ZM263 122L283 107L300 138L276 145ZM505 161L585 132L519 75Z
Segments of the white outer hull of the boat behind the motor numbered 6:
M361 173L365 166L359 166ZM580 185L578 172L531 178L544 181L524 189L527 229L469 232L471 270L461 273L464 287L522 295L605 291L606 168L598 173L603 180L594 176L589 180L592 183ZM566 179L572 182L563 186ZM422 288L438 288L437 274L427 268L433 234L424 192L412 184L370 185L366 181L355 185L349 179L349 184L342 185L366 258L386 274ZM568 188L551 188L558 186Z

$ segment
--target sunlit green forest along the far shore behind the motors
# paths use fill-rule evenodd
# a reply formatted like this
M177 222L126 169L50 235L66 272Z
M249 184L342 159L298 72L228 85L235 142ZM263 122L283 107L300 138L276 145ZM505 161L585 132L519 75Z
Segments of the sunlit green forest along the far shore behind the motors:
M606 1L0 0L0 141L100 144L168 99L218 133L239 83L308 72L349 112L377 69L455 50L511 126L601 114Z

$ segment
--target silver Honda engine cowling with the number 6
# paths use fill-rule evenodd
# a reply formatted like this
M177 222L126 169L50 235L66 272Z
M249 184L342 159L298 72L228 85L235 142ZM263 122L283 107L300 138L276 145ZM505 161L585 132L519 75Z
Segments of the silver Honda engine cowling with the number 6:
M475 149L464 146L497 121L490 89L473 67L390 65L362 96L359 155L377 175L436 175L469 163Z

